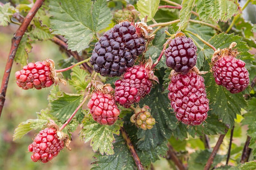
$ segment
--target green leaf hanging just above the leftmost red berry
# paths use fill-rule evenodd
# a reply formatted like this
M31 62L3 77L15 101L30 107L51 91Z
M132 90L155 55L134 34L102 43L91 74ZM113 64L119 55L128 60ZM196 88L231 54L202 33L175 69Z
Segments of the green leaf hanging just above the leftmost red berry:
M20 63L22 66L27 65L28 53L31 52L31 49L32 46L29 42L28 35L24 34L20 40L14 61Z

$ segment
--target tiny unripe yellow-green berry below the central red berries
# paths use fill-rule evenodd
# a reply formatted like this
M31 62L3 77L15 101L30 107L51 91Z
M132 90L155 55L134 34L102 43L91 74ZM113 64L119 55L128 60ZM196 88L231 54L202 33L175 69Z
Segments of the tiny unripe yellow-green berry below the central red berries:
M156 124L155 118L153 118L149 112L149 107L144 106L135 108L135 113L131 116L130 121L134 123L138 128L143 130L152 129Z

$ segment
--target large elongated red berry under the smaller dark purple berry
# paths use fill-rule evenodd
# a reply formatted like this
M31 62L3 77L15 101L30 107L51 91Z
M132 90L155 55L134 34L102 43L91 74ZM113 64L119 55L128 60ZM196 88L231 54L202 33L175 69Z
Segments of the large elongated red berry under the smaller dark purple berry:
M173 75L168 86L168 98L176 118L187 125L200 125L209 110L204 78L195 72Z

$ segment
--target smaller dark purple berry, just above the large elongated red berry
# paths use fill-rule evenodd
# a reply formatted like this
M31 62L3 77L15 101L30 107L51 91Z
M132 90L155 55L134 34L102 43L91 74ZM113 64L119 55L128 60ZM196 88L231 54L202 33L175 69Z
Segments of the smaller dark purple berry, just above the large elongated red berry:
M191 38L176 37L164 52L167 67L181 74L188 74L188 71L196 65L196 51L196 45Z

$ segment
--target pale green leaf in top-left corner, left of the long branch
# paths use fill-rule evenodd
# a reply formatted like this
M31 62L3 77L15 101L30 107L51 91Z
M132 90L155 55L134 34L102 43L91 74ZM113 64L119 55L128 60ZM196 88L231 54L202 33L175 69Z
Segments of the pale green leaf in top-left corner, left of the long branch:
M12 14L14 14L15 8L11 6L11 3L0 5L0 26L8 26L11 22Z

